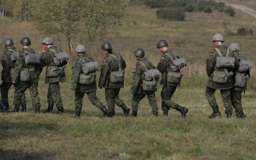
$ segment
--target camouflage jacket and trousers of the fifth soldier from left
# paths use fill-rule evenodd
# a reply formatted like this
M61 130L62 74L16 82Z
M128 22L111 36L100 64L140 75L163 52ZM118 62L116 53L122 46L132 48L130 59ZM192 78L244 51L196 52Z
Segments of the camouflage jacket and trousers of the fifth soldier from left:
M118 57L120 57L119 60ZM124 81L117 83L110 82L110 73L114 71L119 71L119 63L121 69L124 71L124 69L126 68L126 63L123 57L119 53L112 52L106 55L100 68L101 73L98 86L100 88L105 88L107 107L112 112L115 110L115 104L119 107L124 104L118 96L120 88L124 86Z

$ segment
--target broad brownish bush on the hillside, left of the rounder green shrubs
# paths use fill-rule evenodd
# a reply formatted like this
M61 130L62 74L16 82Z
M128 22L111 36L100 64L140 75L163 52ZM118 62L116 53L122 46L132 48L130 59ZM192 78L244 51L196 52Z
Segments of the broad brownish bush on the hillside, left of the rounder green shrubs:
M156 11L157 18L168 19L170 21L184 21L184 9L181 7L163 8Z

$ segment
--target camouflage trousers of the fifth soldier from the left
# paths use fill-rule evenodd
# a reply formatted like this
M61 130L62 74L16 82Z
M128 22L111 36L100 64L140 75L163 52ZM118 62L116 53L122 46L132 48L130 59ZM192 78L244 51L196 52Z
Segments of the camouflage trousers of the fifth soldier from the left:
M115 104L121 106L124 102L119 98L120 88L105 88L107 107L110 111L115 110Z

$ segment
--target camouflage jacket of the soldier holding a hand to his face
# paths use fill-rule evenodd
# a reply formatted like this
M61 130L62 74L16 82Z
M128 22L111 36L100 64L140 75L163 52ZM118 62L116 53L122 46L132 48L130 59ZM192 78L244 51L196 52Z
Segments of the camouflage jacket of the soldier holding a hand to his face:
M53 61L53 57L55 56L55 53L51 51L50 49L55 50L56 53L62 52L58 47L56 46L51 46L49 49L47 49L45 52L42 53L41 59L43 62L43 66L55 66L55 63ZM63 69L63 74L59 74L58 77L47 77L45 73L45 83L55 83L55 82L65 82L66 81L66 76L64 72L64 67Z

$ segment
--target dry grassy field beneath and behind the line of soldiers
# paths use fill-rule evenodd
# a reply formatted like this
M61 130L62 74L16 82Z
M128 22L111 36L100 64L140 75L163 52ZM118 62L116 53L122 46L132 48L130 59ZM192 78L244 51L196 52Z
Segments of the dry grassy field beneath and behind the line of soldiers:
M232 3L233 1L228 1ZM256 8L252 1L244 5ZM112 28L108 35L96 42L89 53L95 60L104 57L100 46L110 41L114 50L120 52L127 63L125 87L120 97L130 108L132 95L129 93L131 74L136 63L133 51L142 47L146 57L157 65L161 53L156 43L164 38L170 49L185 57L188 66L183 69L185 76L181 86L173 95L173 101L189 108L186 119L180 113L170 110L169 117L161 111L161 86L156 92L159 117L151 115L147 98L139 104L137 118L123 117L122 109L116 107L116 116L103 118L103 113L84 98L81 117L73 117L74 92L70 90L72 62L66 68L67 82L60 84L65 114L34 114L29 92L26 91L28 112L18 114L0 113L0 160L254 160L256 159L256 79L255 79L255 35L240 37L224 33L223 22L231 31L239 26L255 29L256 19L237 11L235 17L214 11L186 14L185 22L169 22L156 19L156 9L146 6L127 6L126 21L119 28ZM32 39L32 47L42 50L44 35L34 29L31 23L16 22L10 18L0 19L2 41L12 37L17 47L23 36ZM7 30L5 30L8 28ZM24 31L24 29L26 31ZM212 113L204 95L207 75L205 60L213 48L211 39L221 33L225 44L238 43L245 57L251 59L253 68L248 90L242 94L242 105L247 118L225 118L220 92L215 96L223 117L209 120ZM63 50L65 42L53 37L55 44ZM76 46L76 44L73 44ZM0 48L3 53L4 48ZM73 53L75 54L75 52ZM45 70L39 79L41 110L47 108L48 85L44 84ZM99 77L99 72L98 76ZM14 89L9 92L12 107ZM104 90L98 88L97 96L106 104ZM57 108L54 107L54 113Z

